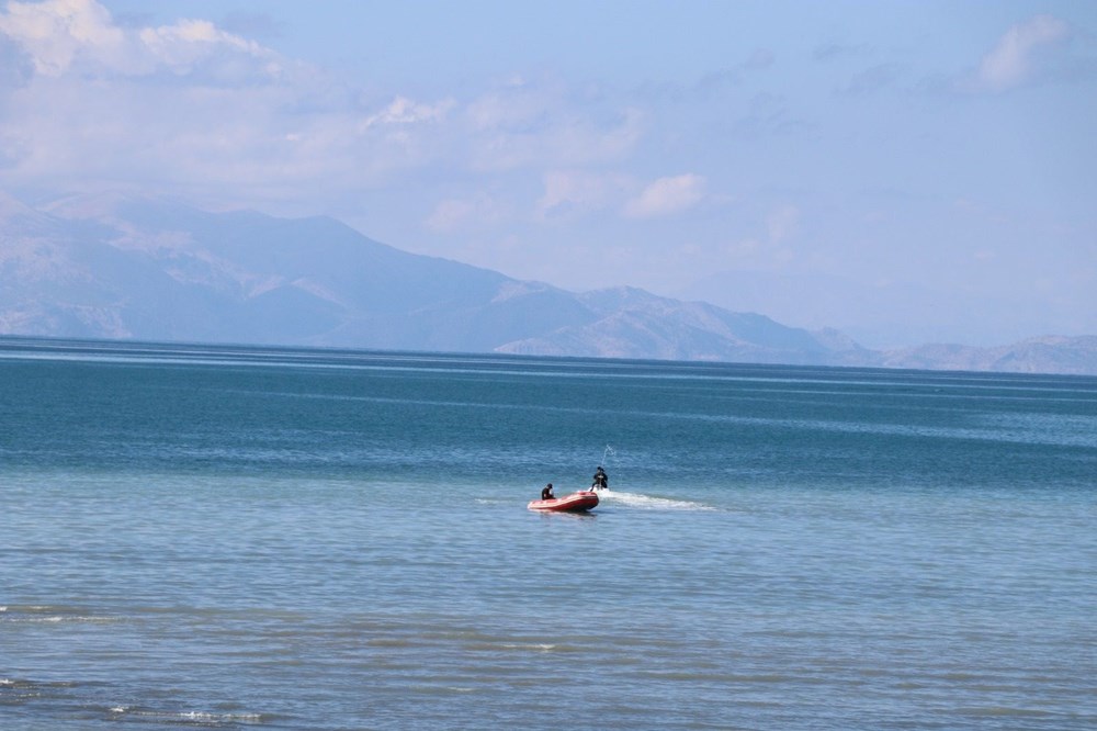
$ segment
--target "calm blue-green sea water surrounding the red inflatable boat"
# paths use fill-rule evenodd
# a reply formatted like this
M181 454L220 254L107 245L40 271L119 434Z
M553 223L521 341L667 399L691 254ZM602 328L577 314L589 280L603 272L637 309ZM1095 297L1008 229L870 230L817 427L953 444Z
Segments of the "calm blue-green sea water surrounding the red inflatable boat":
M7 339L0 498L4 729L1097 728L1097 379Z

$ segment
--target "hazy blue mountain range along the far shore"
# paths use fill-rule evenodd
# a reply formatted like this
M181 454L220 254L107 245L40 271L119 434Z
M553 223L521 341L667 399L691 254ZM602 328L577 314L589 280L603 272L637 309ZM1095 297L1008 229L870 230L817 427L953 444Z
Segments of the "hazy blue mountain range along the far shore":
M568 292L329 217L0 194L0 335L1097 374L1097 337L871 350L634 288Z

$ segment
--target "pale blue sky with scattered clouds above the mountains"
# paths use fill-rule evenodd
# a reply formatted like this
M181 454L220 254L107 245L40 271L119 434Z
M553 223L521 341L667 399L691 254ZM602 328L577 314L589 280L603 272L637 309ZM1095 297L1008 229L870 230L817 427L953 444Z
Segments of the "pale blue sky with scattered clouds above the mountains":
M0 2L0 190L871 347L1097 334L1097 3Z

